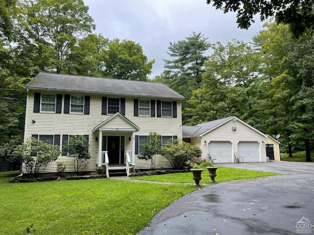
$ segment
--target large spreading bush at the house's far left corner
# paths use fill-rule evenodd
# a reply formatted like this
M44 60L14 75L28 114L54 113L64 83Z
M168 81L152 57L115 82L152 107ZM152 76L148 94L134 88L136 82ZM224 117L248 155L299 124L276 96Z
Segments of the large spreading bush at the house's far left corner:
M38 177L50 162L57 160L60 153L59 146L31 138L18 145L12 155L16 161L23 163L25 173L28 173L30 177Z

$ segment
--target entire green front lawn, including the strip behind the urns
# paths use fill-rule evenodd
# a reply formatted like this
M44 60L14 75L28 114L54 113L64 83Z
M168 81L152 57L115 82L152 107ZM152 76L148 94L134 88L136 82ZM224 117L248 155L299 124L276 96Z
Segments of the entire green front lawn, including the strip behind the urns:
M206 170L207 171L207 170ZM209 182L203 171L201 183ZM115 179L4 183L19 172L0 173L0 235L135 235L193 185L138 183ZM275 173L229 167L217 169L218 182ZM136 177L194 183L192 173Z

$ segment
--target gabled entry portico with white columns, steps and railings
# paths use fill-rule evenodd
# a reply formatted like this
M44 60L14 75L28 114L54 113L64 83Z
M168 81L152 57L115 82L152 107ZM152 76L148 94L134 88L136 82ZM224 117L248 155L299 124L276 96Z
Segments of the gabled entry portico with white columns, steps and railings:
M134 140L137 131L138 126L120 113L116 113L93 129L93 133L98 133L97 168L105 167L107 177L110 169L125 169L129 175L130 167L135 167Z

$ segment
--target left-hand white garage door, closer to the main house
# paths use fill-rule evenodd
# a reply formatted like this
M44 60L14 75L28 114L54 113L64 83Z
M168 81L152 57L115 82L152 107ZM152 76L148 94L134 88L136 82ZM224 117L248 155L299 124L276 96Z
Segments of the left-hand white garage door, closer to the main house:
M210 141L208 144L209 154L214 163L232 163L231 142L228 141Z

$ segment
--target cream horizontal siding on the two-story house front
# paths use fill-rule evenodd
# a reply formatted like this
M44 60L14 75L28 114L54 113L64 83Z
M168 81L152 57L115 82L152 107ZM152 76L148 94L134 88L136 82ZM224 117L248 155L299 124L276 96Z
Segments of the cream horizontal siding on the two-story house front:
M95 95L95 94L81 94L90 95L90 110L89 115L84 114L64 114L64 94L71 93L48 93L36 91L44 94L63 94L62 95L62 109L61 114L56 113L33 113L34 106L34 91L30 90L28 94L28 106L26 115L26 131L25 138L30 138L33 134L55 134L60 135L60 149L62 147L62 135L88 135L89 136L89 153L91 159L89 164L87 164L84 170L94 171L96 169L96 152L98 152L98 142L96 137L99 133L92 133L92 130L110 118L111 115L102 115L102 96L105 95ZM77 94L77 93L75 93ZM78 94L77 94L78 95ZM113 96L110 96L113 97ZM118 96L117 96L118 97ZM120 97L122 98L122 96ZM156 99L157 100L157 99ZM181 116L181 101L177 100L177 118L157 118L157 104L155 102L156 108L155 117L134 117L133 116L133 98L126 97L126 118L131 120L135 125L140 128L139 132L135 135L149 135L150 132L157 132L159 135L172 135L178 136L178 139L182 139L182 116ZM35 120L35 123L32 123ZM110 126L112 124L126 126L125 122L120 122L119 119L113 120L108 123ZM120 126L119 126L120 127ZM129 137L132 137L132 133L106 133L103 135L120 135L125 136L126 141L126 151L132 151L132 141L129 141ZM59 156L56 162L47 165L45 172L56 172L56 164L58 162L64 162L67 164L66 171L73 171L73 158L70 156ZM150 168L150 162L138 160L135 155L135 168ZM169 161L165 158L158 156L156 166L168 168L171 165Z

